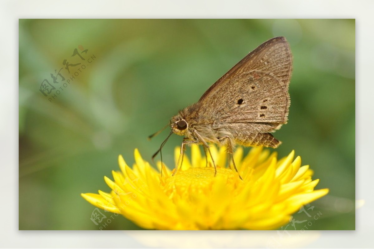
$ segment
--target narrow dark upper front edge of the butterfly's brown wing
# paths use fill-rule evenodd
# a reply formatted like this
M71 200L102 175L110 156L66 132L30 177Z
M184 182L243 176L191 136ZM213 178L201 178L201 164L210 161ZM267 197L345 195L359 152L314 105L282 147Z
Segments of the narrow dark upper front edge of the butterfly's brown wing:
M254 49L248 55L246 55L246 57L244 57L241 61L239 61L235 66L233 66L233 68L230 69L227 73L225 73L220 79L218 79L218 81L216 81L213 85L211 85L211 87L209 87L208 90L206 90L204 92L204 94L201 96L201 98L199 99L199 101L202 101L206 97L206 95L208 95L209 92L211 92L212 89L216 85L218 85L221 81L223 81L229 75L231 75L233 72L235 72L240 66L242 66L244 63L246 63L248 60L251 60L251 58L254 57L255 55L257 55L257 53L259 51L261 51L265 47L267 47L267 46L269 46L269 45L271 45L273 43L277 43L277 42L287 42L287 40L286 40L286 38L284 36L279 36L279 37L274 37L274 38L272 38L270 40L267 40L266 42L262 43L260 46L258 46L256 49ZM291 72L292 72L292 58L291 58Z

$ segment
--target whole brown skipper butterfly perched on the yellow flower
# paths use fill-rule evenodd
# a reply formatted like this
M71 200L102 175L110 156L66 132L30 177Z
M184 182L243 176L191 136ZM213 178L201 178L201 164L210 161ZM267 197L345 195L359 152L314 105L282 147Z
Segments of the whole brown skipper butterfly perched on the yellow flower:
M173 175L183 159L184 146L192 143L209 152L215 173L208 143L227 146L236 171L234 145L277 148L281 142L270 133L287 122L291 71L292 54L285 37L264 42L218 79L199 101L172 117L171 133L152 158L172 133L184 136Z

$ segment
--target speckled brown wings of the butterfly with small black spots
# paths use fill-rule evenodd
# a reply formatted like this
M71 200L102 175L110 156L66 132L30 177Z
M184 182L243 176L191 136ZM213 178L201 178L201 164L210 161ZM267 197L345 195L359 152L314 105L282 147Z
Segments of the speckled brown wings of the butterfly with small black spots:
M290 104L291 71L292 55L288 42L284 37L270 39L202 95L199 115L221 123L285 124ZM277 125L271 125L269 131Z

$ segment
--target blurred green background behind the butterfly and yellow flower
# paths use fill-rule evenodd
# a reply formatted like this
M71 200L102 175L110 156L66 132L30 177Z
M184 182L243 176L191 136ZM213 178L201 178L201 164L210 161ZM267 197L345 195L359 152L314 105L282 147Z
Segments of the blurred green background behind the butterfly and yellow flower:
M294 219L314 221L320 212L307 229L354 230L354 19L20 19L19 229L98 230L90 220L95 207L80 193L108 192L103 176L119 169L119 154L132 165L139 148L150 161L169 131L147 136L275 36L288 39L294 56L289 121L275 133L283 142L277 151L295 149L320 179L316 189L330 189L310 204L312 217ZM80 45L85 61L71 57ZM50 77L65 59L87 65L61 70L64 82L78 73L67 87ZM44 79L56 86L48 97L39 90ZM174 135L163 149L169 167L181 141ZM104 229L141 228L116 216Z

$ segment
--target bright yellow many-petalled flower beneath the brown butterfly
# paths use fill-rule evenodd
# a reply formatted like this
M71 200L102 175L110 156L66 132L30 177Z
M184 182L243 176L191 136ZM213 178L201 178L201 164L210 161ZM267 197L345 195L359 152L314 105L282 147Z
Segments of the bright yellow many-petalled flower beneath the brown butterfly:
M114 182L104 177L110 193L82 194L89 203L101 209L120 213L138 226L159 230L268 230L289 222L292 213L306 203L328 193L314 190L313 171L294 160L294 151L277 160L262 147L252 148L243 158L238 148L234 160L243 180L225 168L227 153L211 146L217 175L208 157L191 146L191 162L184 156L183 165L174 176L157 163L158 170L144 161L135 149L132 169L119 156L121 171L113 171ZM175 148L175 161L180 148Z

